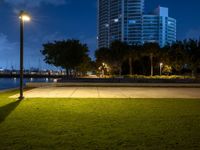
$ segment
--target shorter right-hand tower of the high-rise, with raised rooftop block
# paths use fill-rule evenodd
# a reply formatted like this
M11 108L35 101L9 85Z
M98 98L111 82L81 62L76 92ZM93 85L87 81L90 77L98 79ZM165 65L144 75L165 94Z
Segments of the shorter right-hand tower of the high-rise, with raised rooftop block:
M168 16L168 8L158 7L143 15L143 42L156 42L161 47L176 41L176 20Z

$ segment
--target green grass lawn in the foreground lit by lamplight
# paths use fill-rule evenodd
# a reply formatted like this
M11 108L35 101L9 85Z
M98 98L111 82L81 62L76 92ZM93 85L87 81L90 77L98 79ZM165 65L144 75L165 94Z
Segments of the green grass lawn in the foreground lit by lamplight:
M9 99L0 150L200 149L200 100Z

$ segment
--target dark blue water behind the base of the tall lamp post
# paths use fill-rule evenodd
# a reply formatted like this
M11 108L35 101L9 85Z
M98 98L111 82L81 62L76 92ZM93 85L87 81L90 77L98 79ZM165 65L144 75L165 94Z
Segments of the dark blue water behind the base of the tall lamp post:
M53 82L52 78L25 78L24 84L27 82ZM19 78L0 78L0 90L6 90L19 87Z

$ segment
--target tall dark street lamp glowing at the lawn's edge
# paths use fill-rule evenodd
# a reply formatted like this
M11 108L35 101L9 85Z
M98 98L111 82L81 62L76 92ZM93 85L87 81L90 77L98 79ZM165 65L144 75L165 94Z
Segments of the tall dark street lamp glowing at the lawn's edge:
M23 77L24 77L24 22L31 20L28 13L20 11L20 96L19 99L24 99L23 96Z

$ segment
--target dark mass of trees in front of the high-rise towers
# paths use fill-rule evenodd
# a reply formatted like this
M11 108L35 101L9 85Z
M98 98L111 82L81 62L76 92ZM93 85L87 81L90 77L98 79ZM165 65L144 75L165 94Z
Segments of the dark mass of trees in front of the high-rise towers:
M97 64L106 62L112 69L117 68L119 72L130 75L159 74L160 64L170 74L181 73L185 69L196 75L200 69L200 41L192 39L177 41L165 47L157 43L128 45L114 41L110 48L100 48L95 54ZM129 71L124 71L127 69Z

